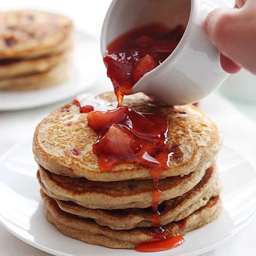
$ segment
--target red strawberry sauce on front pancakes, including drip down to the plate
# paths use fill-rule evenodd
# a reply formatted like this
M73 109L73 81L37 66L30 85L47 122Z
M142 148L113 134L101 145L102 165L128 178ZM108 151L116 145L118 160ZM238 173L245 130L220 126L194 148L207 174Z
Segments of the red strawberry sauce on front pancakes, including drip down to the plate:
M160 212L158 203L161 191L158 180L164 169L168 168L174 150L179 145L168 147L168 122L155 113L138 113L126 106L114 108L109 102L97 97L83 94L76 98L81 107L91 105L94 111L87 114L88 125L99 136L93 145L93 152L98 155L99 166L102 171L113 169L121 163L137 163L150 170L154 180L152 189L152 229L151 241L139 244L139 251L168 250L180 245L177 237L165 236L165 230L160 226ZM74 101L75 105L76 101ZM105 111L99 111L105 110ZM73 149L74 155L81 151ZM70 169L70 171L73 171Z

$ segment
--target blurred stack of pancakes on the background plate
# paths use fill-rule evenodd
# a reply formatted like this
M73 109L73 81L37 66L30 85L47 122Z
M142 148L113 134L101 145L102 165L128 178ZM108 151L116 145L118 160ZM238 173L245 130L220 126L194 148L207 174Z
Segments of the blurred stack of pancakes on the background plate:
M42 11L0 13L0 90L35 90L69 78L72 21Z

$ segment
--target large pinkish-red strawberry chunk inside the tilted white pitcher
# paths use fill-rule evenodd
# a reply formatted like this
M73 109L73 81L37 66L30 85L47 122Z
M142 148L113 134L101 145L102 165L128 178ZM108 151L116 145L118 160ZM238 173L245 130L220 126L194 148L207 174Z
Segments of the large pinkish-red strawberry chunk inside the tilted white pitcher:
M155 67L157 67L157 62L149 54L147 54L135 62L131 76L134 81L137 82L145 73L151 71Z

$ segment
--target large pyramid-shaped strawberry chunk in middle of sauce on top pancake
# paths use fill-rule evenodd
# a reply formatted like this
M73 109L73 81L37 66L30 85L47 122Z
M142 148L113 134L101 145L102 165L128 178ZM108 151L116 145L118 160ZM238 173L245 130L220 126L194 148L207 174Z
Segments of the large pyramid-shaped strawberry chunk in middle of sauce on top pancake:
M140 150L141 146L134 135L117 124L110 126L98 145L99 152L121 159L131 158Z

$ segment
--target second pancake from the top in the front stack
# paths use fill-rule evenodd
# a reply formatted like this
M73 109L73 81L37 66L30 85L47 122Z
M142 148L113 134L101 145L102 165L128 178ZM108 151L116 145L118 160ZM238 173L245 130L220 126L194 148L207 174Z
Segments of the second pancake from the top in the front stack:
M90 181L56 175L41 166L38 178L39 174L52 198L73 201L90 209L146 208L152 203L153 180ZM159 180L158 189L162 191L159 203L183 195L199 183L204 174L201 170Z

